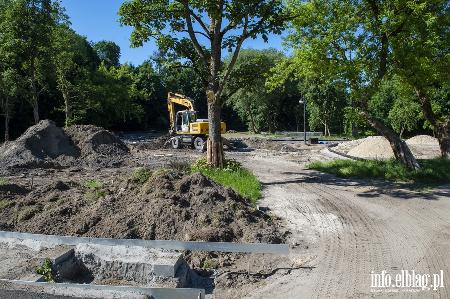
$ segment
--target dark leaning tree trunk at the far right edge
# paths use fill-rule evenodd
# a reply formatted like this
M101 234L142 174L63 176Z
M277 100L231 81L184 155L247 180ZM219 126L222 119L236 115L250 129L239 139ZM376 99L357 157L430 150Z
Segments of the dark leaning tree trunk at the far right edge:
M445 120L441 120L436 114L434 114L431 108L431 103L425 92L420 89L416 84L412 84L417 96L422 102L423 116L436 130L436 136L439 140L440 153L442 157L447 156L450 158L450 111L448 111Z

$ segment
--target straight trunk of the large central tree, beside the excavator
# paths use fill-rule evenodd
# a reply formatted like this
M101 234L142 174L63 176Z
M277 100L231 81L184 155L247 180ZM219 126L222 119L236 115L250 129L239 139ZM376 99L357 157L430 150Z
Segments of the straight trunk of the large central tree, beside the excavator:
M220 112L222 109L220 96L216 93L208 92L208 119L209 138L207 147L207 161L216 168L223 168L224 154L222 133L220 131Z

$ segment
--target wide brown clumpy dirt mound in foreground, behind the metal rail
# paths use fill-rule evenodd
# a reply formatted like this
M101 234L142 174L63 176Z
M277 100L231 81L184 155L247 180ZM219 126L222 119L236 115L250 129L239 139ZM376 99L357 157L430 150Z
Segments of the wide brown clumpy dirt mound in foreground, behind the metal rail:
M141 184L73 181L25 188L4 184L0 225L15 232L217 242L280 243L270 217L234 189L201 173L152 172Z

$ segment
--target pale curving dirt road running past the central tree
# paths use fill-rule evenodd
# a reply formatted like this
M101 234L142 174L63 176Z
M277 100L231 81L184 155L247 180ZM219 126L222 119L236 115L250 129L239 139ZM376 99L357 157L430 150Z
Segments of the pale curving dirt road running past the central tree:
M238 156L264 183L260 205L285 221L294 245L279 266L291 271L244 298L450 298L449 185L416 193L339 179L286 156ZM412 277L418 287L408 287Z

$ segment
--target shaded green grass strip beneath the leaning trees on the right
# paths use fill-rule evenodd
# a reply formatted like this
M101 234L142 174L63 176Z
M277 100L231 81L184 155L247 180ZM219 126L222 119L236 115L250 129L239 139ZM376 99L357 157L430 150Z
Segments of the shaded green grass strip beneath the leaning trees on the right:
M389 160L334 160L313 162L309 168L335 174L342 178L381 179L402 183L413 189L426 189L450 183L450 159L418 160L421 171L406 168L401 162Z

